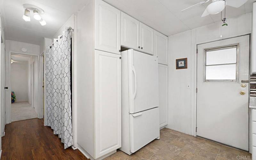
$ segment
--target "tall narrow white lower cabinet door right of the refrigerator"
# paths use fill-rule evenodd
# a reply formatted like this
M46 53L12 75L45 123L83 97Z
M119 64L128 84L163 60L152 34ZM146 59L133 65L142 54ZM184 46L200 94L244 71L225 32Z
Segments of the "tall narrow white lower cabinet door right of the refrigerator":
M159 123L160 128L168 124L168 66L158 64Z

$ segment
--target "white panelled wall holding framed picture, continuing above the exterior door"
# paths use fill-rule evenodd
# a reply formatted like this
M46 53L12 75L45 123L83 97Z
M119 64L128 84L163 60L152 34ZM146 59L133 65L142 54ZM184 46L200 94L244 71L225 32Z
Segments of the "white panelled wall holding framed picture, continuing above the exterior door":
M169 36L169 122L167 128L194 135L196 44L252 32L252 13ZM188 69L176 70L175 60L188 58ZM187 85L191 89L187 89Z

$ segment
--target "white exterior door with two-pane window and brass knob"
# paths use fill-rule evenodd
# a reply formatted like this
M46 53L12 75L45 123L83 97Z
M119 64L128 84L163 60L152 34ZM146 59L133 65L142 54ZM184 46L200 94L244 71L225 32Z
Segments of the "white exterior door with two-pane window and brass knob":
M249 38L200 44L197 54L196 135L247 151Z

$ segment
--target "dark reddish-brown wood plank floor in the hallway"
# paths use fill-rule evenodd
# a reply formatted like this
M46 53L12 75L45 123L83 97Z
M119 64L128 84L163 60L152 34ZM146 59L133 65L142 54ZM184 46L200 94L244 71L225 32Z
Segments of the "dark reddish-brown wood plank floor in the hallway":
M78 149L64 149L58 135L43 119L12 122L5 126L1 159L87 159Z

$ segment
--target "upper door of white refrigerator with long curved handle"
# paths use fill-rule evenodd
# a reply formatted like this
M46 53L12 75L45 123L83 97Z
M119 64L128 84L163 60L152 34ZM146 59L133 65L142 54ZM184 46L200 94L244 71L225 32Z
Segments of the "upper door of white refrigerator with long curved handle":
M130 114L159 106L157 57L128 50Z

